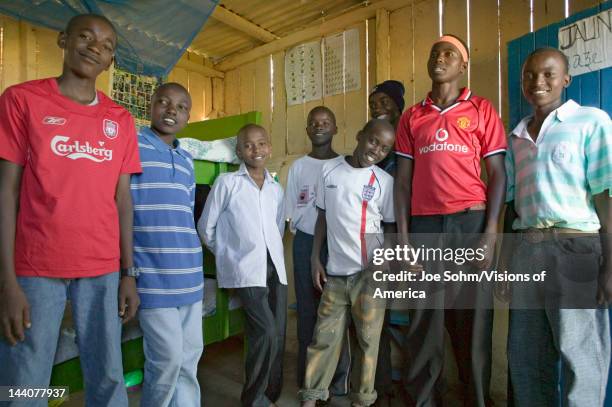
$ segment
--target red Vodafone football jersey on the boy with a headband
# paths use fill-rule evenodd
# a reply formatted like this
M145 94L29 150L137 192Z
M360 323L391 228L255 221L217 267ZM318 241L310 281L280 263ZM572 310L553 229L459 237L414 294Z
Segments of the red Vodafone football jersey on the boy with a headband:
M428 96L404 112L395 143L397 155L414 160L412 215L445 215L486 202L480 160L507 148L491 102L468 88L444 110Z

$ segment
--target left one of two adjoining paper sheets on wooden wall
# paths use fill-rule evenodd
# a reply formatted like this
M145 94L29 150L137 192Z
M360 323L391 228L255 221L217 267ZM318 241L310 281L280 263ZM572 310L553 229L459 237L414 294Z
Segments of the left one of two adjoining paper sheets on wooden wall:
M300 44L285 54L287 104L321 99L321 43Z

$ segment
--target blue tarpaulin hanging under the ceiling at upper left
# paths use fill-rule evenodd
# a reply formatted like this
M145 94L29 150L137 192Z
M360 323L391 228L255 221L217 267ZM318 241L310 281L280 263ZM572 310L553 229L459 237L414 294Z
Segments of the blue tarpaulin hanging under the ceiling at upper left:
M61 31L82 13L106 16L119 39L116 64L132 73L166 76L219 0L11 0L0 13Z

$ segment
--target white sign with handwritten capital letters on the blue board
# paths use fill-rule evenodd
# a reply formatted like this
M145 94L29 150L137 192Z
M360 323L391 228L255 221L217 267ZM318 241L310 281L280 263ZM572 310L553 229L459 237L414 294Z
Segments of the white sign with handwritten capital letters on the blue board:
M559 49L567 55L570 75L612 66L612 9L559 28Z

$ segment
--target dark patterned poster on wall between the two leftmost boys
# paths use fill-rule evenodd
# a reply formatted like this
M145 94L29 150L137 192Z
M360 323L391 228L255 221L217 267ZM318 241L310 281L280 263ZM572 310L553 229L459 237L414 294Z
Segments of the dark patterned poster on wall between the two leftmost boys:
M158 78L115 68L111 75L111 98L132 114L137 128L147 127L151 121L151 97L159 83Z

